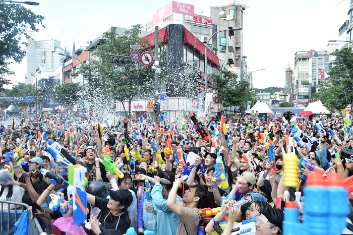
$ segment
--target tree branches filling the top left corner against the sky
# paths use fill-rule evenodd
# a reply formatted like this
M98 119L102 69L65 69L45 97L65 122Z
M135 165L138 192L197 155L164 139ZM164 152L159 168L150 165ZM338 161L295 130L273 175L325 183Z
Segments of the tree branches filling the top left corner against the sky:
M36 15L20 4L5 3L0 0L0 88L10 84L4 78L5 75L13 75L9 65L20 63L26 55L21 45L27 46L27 42L21 42L22 35L26 39L30 36L26 33L28 27L38 32L36 25L42 24L44 16ZM45 26L42 25L44 28Z

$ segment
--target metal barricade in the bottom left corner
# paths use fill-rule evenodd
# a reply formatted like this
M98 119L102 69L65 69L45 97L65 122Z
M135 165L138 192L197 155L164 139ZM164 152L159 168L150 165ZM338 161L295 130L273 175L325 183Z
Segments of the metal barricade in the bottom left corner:
M23 211L27 210L29 206L25 203L10 202L5 200L0 200L0 205L2 208L1 215L0 215L0 235L12 235L16 231L16 227L14 224L21 217L21 214L23 213ZM15 205L15 208L10 209L10 205ZM4 214L7 214L7 221L4 221ZM12 216L12 214L14 214L14 216ZM43 233L42 227L39 225L37 218L34 217L33 219L31 219L31 214L32 214L32 211L29 211L28 212L28 234L40 235ZM6 224L4 224L4 222L6 222ZM4 227L4 225L6 225L6 227Z

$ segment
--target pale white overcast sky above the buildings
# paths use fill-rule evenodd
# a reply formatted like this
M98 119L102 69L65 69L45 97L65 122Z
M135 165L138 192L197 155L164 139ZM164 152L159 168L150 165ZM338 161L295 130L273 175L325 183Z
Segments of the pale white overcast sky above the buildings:
M35 0L33 0L35 1ZM131 28L152 21L153 13L170 1L162 0L37 0L26 8L45 16L36 40L56 39L72 51L75 41L92 41L111 26ZM184 0L198 14L209 6L234 3L229 0ZM255 88L283 87L285 67L294 68L296 51L327 50L327 40L338 39L338 29L348 19L349 0L236 0L247 6L243 23L243 55L247 56ZM25 81L26 58L11 65L16 73L7 79ZM9 87L7 87L9 88Z

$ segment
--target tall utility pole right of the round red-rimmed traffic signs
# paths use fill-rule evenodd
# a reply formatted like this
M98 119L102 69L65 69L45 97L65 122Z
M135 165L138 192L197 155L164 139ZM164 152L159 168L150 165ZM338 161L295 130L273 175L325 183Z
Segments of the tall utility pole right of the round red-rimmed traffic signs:
M159 123L160 120L160 104L158 98L158 67L159 67L159 58L158 58L158 39L159 39L159 32L158 26L155 27L154 33L154 104L153 104L153 111L154 111L154 122Z

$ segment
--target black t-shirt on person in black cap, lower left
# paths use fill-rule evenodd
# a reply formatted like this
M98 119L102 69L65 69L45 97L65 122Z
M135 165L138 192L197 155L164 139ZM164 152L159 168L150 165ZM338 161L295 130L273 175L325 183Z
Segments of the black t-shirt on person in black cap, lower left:
M100 209L100 218L99 222L107 227L108 229L117 229L122 233L126 233L130 227L130 218L127 213L124 213L119 216L113 216L111 210L107 208L108 201L106 199L101 199L95 197L94 204Z

